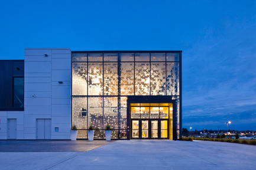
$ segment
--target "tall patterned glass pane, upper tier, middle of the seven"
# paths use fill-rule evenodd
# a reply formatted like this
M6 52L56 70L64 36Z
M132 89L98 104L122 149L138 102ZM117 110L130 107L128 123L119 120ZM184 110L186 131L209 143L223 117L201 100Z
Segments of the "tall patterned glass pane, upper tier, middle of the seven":
M121 95L134 95L134 63L121 63Z

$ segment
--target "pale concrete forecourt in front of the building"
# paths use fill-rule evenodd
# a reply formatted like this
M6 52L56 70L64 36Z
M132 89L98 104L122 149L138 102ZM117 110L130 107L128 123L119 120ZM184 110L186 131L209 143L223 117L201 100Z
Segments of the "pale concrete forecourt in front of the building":
M2 145L3 142L7 144ZM64 141L64 144L50 141L55 148L62 147L62 152L58 149L49 152L47 144L40 147L40 142L38 147L43 149L33 152L25 147L24 151L21 148L15 151L8 142L11 141L0 141L0 169L256 169L253 145L167 140ZM36 141L30 142L26 147L36 145ZM97 146L85 149L94 144ZM7 148L12 148L12 152Z

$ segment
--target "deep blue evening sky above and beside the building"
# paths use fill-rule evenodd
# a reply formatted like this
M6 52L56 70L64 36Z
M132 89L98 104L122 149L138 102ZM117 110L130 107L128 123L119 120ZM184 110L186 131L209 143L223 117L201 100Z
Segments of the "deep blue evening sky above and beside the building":
M24 48L182 50L183 126L256 130L256 1L0 1L0 58Z

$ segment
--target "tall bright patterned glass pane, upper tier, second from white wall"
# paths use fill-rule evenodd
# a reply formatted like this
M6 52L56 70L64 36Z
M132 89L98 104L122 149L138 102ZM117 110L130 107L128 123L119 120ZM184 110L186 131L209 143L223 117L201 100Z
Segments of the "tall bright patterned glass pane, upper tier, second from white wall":
M89 63L88 95L102 95L103 93L103 64Z

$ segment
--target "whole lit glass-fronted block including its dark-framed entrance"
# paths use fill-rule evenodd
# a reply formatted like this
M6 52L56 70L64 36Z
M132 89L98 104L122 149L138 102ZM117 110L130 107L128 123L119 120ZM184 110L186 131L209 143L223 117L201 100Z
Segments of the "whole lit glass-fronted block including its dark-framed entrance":
M72 126L77 139L180 138L182 51L73 51Z

